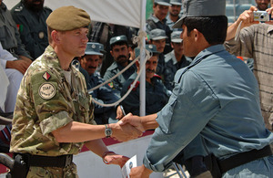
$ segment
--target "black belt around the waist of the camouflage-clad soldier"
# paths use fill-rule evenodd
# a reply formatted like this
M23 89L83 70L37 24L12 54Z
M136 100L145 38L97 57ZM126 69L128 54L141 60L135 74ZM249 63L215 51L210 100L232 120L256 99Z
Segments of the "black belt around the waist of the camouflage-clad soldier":
M40 156L40 155L31 155L26 153L15 153L21 154L24 158L24 161L28 166L36 167L59 167L64 168L70 165L73 161L73 154L66 154L61 156Z

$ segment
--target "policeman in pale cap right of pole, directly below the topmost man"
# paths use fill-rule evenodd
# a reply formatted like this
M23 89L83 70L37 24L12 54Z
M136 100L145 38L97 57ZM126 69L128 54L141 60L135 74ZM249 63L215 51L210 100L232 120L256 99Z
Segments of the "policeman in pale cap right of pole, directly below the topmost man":
M158 63L157 63L157 75L161 76L165 70L165 60L164 60L164 48L166 47L167 36L164 30L156 28L149 33L150 43L157 47L159 52Z

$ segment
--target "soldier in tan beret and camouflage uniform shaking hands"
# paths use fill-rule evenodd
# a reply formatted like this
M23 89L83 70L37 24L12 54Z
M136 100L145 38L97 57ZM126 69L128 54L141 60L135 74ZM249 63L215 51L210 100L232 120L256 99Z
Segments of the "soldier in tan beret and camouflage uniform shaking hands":
M26 71L15 104L10 152L23 166L20 176L77 177L72 158L84 144L104 162L122 166L127 158L109 152L101 138L126 141L141 133L129 125L96 125L86 81L71 65L85 54L90 16L63 6L46 24L49 46Z

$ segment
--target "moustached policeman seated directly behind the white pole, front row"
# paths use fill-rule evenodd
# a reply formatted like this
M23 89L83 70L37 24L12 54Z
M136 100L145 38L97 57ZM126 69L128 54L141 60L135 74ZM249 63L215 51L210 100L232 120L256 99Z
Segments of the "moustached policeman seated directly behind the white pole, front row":
M147 45L147 50L152 52L153 56L146 62L146 114L156 113L161 110L167 103L169 92L164 87L162 80L159 76L155 75L157 69L158 51L154 45ZM136 58L139 56L139 48L135 49ZM139 62L136 61L137 73L140 70ZM124 84L121 96L126 94L130 86L136 79L136 73L133 74ZM121 104L126 113L133 113L139 115L139 81L136 82L134 89L124 99Z

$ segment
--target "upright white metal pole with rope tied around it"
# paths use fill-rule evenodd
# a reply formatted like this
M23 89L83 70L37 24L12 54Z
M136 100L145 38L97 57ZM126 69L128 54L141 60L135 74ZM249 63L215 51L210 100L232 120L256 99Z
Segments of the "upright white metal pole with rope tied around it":
M140 10L140 30L146 31L146 0L141 1L141 10ZM140 66L145 64L145 37L140 39L142 41L142 47L140 48ZM140 93L139 93L139 115L146 115L146 70L143 70L140 76Z

